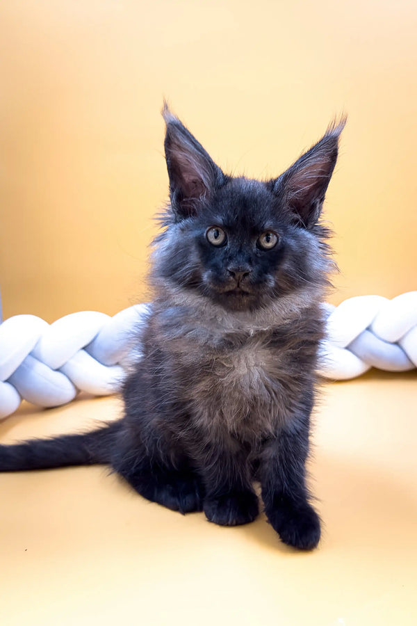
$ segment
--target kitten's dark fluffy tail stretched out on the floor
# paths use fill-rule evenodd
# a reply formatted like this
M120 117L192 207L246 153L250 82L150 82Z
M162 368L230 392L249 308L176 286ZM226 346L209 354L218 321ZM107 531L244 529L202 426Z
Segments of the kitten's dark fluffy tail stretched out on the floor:
M0 472L110 463L121 422L112 422L83 435L62 435L10 446L0 445Z

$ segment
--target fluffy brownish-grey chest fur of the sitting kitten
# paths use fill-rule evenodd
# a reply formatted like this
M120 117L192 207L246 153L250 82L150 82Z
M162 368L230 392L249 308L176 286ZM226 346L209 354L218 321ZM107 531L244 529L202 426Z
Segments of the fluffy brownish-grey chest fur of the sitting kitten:
M251 319L169 307L154 324L170 355L165 376L172 376L174 395L195 426L252 441L276 432L296 412L300 372L311 371L300 362L300 311L290 333L277 330L276 310Z

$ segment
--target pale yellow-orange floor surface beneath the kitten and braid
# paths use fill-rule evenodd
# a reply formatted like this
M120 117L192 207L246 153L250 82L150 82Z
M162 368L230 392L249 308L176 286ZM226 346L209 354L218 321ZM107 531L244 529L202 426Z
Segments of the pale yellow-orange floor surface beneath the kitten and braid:
M0 475L3 626L415 626L417 375L325 385L313 490L316 552L284 547L261 516L220 528L150 504L105 467ZM0 440L117 416L115 398L38 412Z

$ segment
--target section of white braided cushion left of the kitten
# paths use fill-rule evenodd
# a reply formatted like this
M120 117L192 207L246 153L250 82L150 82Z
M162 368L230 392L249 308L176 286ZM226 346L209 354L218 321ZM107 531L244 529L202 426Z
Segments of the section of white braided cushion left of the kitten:
M147 314L135 305L111 317L95 311L66 315L49 325L16 315L0 325L0 419L22 398L60 406L79 391L117 392L129 364L134 331Z

